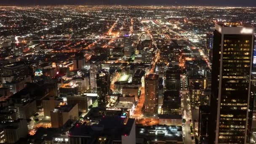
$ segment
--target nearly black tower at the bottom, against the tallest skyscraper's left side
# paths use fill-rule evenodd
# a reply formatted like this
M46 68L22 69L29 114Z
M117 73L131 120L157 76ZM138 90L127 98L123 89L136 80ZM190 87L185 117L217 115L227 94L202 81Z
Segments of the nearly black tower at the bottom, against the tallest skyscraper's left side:
M210 121L210 106L204 105L199 107L199 119L198 119L198 137L199 144L208 144Z

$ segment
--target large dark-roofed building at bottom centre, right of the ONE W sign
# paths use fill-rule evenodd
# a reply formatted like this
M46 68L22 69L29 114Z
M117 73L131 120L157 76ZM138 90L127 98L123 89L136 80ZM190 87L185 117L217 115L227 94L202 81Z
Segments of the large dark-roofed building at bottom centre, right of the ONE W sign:
M74 125L69 131L69 144L136 144L135 128L135 119L104 116L99 124Z

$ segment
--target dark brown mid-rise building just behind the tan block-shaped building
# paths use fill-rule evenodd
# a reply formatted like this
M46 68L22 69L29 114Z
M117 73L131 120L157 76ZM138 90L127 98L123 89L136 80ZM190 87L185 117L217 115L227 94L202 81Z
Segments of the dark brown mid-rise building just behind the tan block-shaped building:
M67 96L67 104L78 104L79 111L87 111L87 96L86 95L75 95L75 96Z

